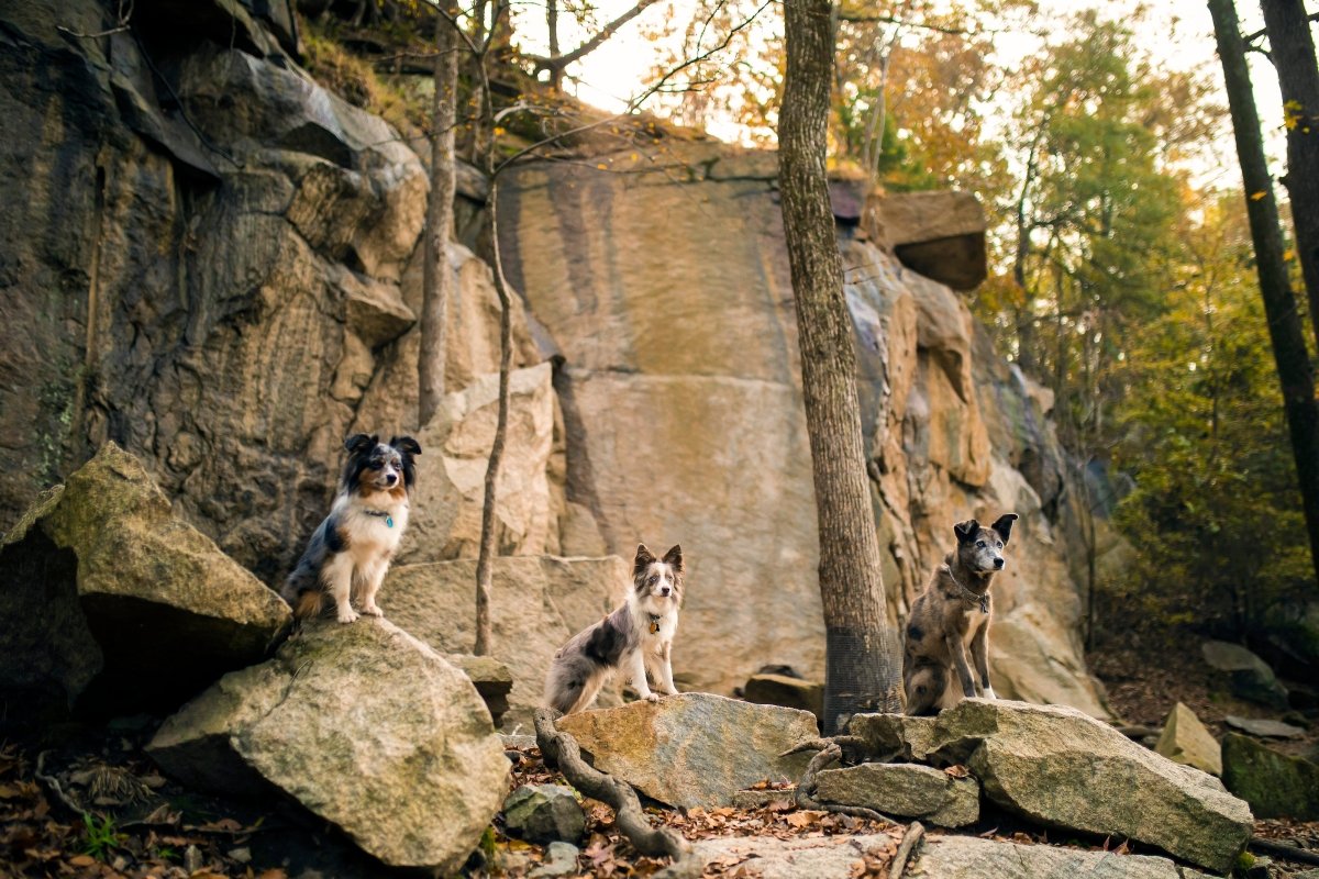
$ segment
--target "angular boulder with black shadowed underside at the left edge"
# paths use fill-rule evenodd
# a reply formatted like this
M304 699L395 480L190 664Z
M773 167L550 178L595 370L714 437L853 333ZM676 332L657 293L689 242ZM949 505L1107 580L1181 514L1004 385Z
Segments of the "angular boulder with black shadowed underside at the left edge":
M291 622L113 443L0 540L0 685L117 712L178 705Z

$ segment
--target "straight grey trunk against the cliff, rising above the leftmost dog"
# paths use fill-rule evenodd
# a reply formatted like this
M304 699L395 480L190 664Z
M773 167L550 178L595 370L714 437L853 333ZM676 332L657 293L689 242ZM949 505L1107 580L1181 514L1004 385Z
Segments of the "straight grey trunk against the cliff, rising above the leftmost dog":
M445 398L448 297L454 273L448 237L454 227L454 125L458 116L458 34L445 16L435 17L435 98L431 104L430 200L426 204L426 253L422 262L421 353L417 357L418 427L430 423Z

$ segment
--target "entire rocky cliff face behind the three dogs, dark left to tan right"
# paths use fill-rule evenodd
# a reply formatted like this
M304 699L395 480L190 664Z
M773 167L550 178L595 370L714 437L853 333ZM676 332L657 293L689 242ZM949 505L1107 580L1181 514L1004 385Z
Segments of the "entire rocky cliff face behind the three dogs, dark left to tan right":
M497 304L488 266L454 244L452 394L418 426L421 161L301 71L288 21L239 0L138 0L133 30L75 36L112 29L113 8L0 14L0 528L111 439L274 584L324 514L343 436L408 431L425 451L404 559L474 555ZM525 299L501 550L681 542L681 684L729 692L765 663L819 676L774 157L692 144L663 163L528 165L501 187ZM973 217L853 207L840 228L893 618L955 521L1013 510L996 687L1101 713L1046 394L995 358L956 294L893 256L935 273ZM934 231L911 233L922 223Z

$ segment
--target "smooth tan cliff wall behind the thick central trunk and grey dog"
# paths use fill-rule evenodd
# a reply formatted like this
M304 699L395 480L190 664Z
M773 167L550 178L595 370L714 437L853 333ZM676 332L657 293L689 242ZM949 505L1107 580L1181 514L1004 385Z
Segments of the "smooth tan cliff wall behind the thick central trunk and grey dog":
M689 169L679 181L624 154L607 161L637 174L530 163L500 188L509 279L565 361L566 501L590 511L609 552L683 544L674 664L692 685L731 692L766 663L820 679L815 523L799 515L814 489L774 157L700 144L667 156ZM959 223L956 235L973 235ZM1105 716L1075 634L1070 565L1080 572L1084 556L1070 505L1080 492L1064 488L1047 394L995 357L951 290L873 241L844 241L843 253L894 625L954 522L1016 511L995 585L995 687Z

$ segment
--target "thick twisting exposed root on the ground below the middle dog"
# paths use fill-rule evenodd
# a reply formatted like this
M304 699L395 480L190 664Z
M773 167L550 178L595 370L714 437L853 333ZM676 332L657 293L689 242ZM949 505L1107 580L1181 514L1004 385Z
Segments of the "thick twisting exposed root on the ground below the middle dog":
M550 709L536 709L534 718L536 743L546 762L554 763L578 791L612 808L619 830L637 851L650 858L673 858L673 863L656 874L657 876L695 879L702 874L704 865L691 850L691 843L669 828L650 826L632 785L600 772L582 759L576 739L554 725L554 713Z

